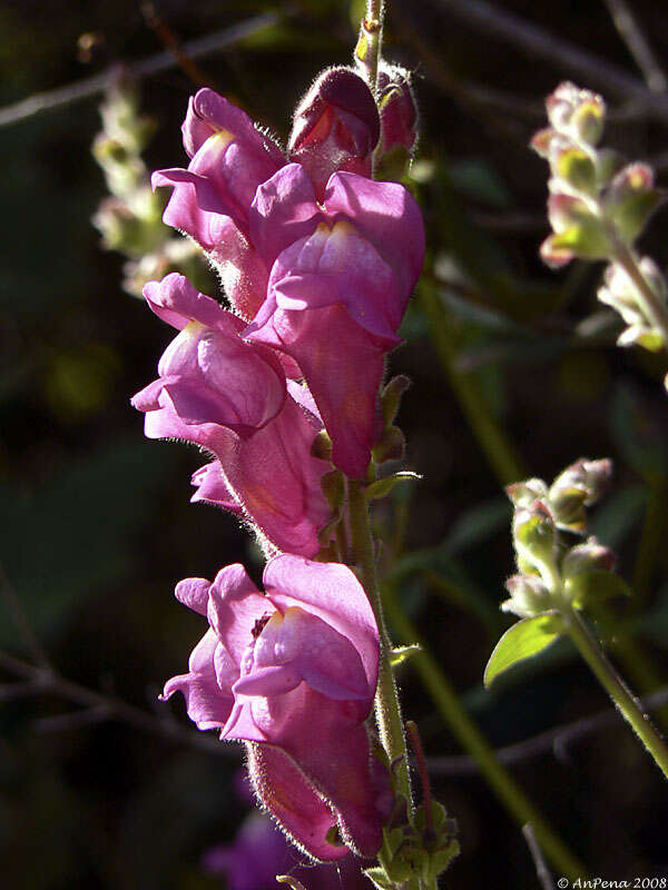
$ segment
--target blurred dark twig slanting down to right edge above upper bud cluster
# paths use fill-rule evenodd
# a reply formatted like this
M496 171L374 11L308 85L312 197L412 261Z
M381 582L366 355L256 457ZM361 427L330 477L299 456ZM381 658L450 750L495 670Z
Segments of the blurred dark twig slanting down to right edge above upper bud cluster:
M527 56L544 59L564 69L581 78L588 87L598 87L607 93L638 100L648 116L668 122L668 96L651 92L641 80L612 62L573 46L514 12L492 6L487 0L435 2L451 18L465 21L488 37L511 43Z

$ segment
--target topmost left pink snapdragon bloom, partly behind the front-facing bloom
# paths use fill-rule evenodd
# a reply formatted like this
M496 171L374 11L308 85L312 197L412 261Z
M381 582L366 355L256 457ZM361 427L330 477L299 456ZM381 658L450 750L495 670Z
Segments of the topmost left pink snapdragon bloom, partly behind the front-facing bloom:
M156 170L151 179L154 188L174 186L163 219L204 248L230 301L252 318L268 273L248 243L248 211L257 186L285 157L240 108L210 89L190 98L181 130L188 169Z

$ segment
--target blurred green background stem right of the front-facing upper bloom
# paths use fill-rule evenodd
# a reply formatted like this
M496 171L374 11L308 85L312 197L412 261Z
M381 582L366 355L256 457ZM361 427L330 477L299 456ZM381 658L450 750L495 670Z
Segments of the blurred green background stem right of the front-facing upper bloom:
M522 463L502 427L490 413L474 377L455 367L446 313L435 288L424 281L420 295L443 369L488 463L502 485L524 478L527 474Z

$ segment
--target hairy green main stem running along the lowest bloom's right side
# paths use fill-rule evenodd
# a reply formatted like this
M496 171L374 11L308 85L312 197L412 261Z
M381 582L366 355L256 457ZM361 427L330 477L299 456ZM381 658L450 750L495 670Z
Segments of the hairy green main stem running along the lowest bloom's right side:
M392 671L392 664L390 662L392 643L390 642L387 627L385 625L381 593L376 577L374 542L369 520L369 504L366 502L364 485L357 479L348 479L348 520L353 562L360 568L362 584L366 591L379 625L381 659L379 664L379 685L375 698L376 722L381 742L387 752L390 761L396 761L395 774L399 791L405 797L409 810L412 812L413 798L411 793L406 740L396 683L394 682L394 672Z

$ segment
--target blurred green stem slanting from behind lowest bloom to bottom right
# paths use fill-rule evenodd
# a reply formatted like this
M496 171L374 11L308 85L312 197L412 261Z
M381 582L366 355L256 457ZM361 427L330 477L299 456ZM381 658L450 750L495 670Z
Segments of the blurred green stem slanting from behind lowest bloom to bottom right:
M554 834L522 789L499 763L491 745L463 709L450 681L429 653L413 623L401 609L394 586L389 583L384 586L384 604L387 610L387 616L402 640L406 643L418 642L420 644L422 651L413 656L412 664L430 692L443 721L459 739L464 750L474 758L481 773L499 800L518 824L524 825L527 822L531 822L541 849L561 874L571 881L586 876L587 869L584 866L572 856L566 844Z

